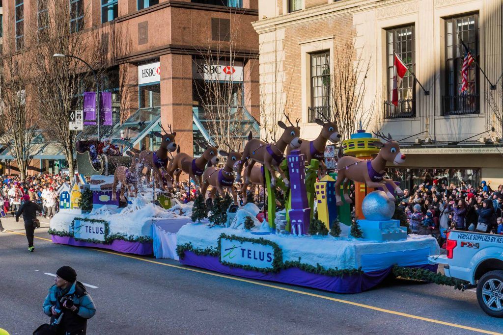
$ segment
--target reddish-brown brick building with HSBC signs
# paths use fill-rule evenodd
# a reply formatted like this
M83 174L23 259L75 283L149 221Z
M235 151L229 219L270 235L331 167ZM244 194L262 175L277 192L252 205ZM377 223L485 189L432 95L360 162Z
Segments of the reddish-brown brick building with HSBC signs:
M122 137L139 149L153 149L157 139L149 134L159 131L161 122L163 128L171 125L177 132L176 142L183 152L197 155L200 147L194 140L213 139L205 129L202 101L194 94L194 86L207 79L206 69L221 72L229 65L233 66L233 74L221 79L237 87L239 96L232 108L242 108L248 117L243 127L258 132L258 35L251 25L258 19L257 0L68 1L76 9L70 15L72 29L101 29L116 24L131 39L130 52L118 60L119 67L126 71L117 68L115 80L102 87L113 92L112 138ZM10 42L15 47L22 43L24 23L43 15L41 4L26 0L7 0L3 4L4 30L11 30ZM84 15L83 9L89 15ZM127 78L119 78L122 75ZM121 97L117 92L122 82L129 90L125 109L130 117L120 125ZM53 159L57 153L52 154ZM0 159L9 158L8 152L0 153ZM34 160L29 173L48 171L47 164L44 157ZM62 165L64 162L60 162Z

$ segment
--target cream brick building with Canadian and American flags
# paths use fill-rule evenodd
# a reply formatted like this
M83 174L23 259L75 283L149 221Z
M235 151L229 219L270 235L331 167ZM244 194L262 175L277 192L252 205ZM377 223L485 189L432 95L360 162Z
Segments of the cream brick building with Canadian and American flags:
M501 77L500 0L263 0L254 27L260 41L262 118L280 106L302 120L303 138L315 138L317 110L333 113L334 52L351 41L357 54L370 60L363 108L373 109L368 130L397 140L410 137L400 142L405 165L390 170L395 180L405 187L435 178L472 184L485 179L493 187L503 183L496 116L501 82L491 90L472 64L469 87L460 90L466 55L461 40L491 83ZM398 107L391 104L394 52L429 95L408 72ZM494 97L496 113L488 95ZM491 127L495 132L488 131Z

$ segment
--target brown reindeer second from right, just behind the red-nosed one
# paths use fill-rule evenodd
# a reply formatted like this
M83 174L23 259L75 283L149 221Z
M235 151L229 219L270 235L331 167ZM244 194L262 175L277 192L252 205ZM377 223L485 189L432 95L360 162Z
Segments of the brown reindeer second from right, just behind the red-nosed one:
M325 120L328 120L323 114L321 114L321 116L323 116ZM341 135L339 134L339 129L337 128L337 124L335 122L323 122L320 119L314 119L314 122L322 126L321 132L318 137L312 141L301 139L302 144L300 145L300 152L305 155L304 157L306 158L306 162L308 164L311 163L311 159L317 159L319 161L318 176L321 178L322 175L325 174L322 173L322 171L326 170L324 159L326 142L330 141L335 144L341 140ZM286 149L287 155L292 150L293 149L291 147L288 147Z

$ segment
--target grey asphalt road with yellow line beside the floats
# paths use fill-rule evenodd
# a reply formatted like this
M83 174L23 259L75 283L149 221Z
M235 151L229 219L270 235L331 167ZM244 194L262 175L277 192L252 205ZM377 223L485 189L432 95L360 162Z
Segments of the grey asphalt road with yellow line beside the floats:
M400 279L353 295L256 282L181 266L47 241L36 231L29 253L21 224L3 219L0 233L0 327L31 334L49 318L42 303L62 265L91 285L97 314L89 334L473 334L503 331L475 292ZM45 221L47 222L47 221ZM44 220L42 220L44 225Z

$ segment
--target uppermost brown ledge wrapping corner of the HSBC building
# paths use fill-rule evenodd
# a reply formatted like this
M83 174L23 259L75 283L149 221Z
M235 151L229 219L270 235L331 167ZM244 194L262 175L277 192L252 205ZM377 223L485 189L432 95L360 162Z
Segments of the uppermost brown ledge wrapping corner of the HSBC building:
M126 14L124 16L121 16L116 19L117 22L123 22L127 21L148 13L152 13L158 10L161 10L163 8L168 8L168 7L173 7L173 8L183 8L183 9L190 9L190 10L198 10L198 11L210 11L210 12L219 12L219 13L231 13L231 14L241 14L241 15L251 15L251 16L259 16L259 11L258 10L252 10L252 9L247 9L247 8L228 8L224 6L215 6L215 5L205 5L205 4L198 4L198 3L187 3L183 1L172 1L172 0L167 0L163 3L130 13Z

